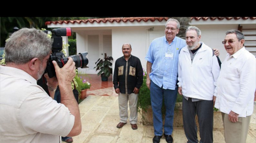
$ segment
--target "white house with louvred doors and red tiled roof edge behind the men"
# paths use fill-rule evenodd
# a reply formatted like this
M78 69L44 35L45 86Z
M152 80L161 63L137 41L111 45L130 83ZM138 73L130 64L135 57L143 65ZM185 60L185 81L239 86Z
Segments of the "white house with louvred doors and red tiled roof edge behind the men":
M124 43L131 44L131 54L138 57L146 69L144 58L149 45L155 38L165 35L167 20L168 17L130 17L47 21L45 24L48 28L70 27L72 32L76 32L77 53L87 51L89 59L89 68L78 68L78 71L96 74L95 62L103 58L104 53L113 57L114 69L115 60L123 55L121 47ZM242 30L246 49L256 56L256 17L191 17L190 25L201 30L202 42L220 50L222 61L226 51L221 42L230 29ZM63 39L67 41L67 37Z

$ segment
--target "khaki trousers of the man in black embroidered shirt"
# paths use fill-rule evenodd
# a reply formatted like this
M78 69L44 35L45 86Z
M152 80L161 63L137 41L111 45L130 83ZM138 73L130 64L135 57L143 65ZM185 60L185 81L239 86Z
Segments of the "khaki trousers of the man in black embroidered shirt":
M123 94L119 93L118 95L118 102L119 102L119 115L120 115L120 122L127 123L128 119L128 101L129 101L129 108L130 108L130 123L136 124L137 123L137 102L138 102L138 94Z

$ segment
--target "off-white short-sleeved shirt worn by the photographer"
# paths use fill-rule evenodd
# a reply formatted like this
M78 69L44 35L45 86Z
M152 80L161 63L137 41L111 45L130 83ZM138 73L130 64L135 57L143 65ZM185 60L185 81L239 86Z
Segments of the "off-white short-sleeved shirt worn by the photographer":
M75 117L23 70L0 66L0 142L59 143Z

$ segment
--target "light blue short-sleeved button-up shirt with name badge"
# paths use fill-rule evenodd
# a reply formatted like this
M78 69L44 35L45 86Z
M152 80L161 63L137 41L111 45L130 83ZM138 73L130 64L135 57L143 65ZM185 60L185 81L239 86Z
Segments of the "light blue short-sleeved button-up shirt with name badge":
M145 59L152 63L149 78L163 89L175 90L178 77L178 58L180 50L186 46L186 41L179 37L168 44L166 37L159 37L152 41ZM166 59L166 53L172 53L173 59Z

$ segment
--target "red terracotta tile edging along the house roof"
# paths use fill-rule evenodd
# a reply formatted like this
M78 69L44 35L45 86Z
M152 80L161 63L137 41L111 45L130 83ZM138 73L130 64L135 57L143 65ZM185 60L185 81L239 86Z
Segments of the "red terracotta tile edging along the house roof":
M247 20L247 19L251 19L251 20L255 20L256 17L191 17L190 20L239 20L239 19L242 19L242 20ZM94 22L97 22L97 23L100 23L100 22L103 22L103 23L106 23L106 22L110 22L110 23L113 23L113 22L127 22L127 21L130 21L130 22L134 22L134 21L137 21L137 22L141 22L141 21L144 21L144 22L147 22L147 21L151 21L151 22L154 22L155 20L158 20L159 22L165 20L167 21L168 20L168 17L125 17L125 18L96 18L96 19L87 19L87 20L58 20L58 21L46 21L45 22L45 25L50 25L50 24L69 24L69 23L94 23Z

